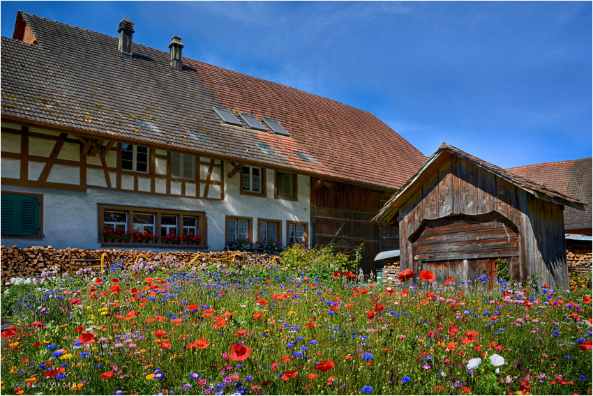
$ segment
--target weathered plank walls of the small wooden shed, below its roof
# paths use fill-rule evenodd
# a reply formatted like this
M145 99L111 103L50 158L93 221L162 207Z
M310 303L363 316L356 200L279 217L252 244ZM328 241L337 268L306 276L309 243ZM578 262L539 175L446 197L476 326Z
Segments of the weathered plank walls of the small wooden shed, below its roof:
M500 250L500 257L509 259L509 273L513 279L524 279L537 274L541 284L554 287L567 286L568 266L564 241L563 206L536 199L516 185L456 155L433 164L432 169L427 169L425 173L423 185L417 188L400 207L398 220L402 269L411 268L414 271L418 269L414 268L415 255L419 255L422 261L435 261L435 254L442 255L441 261L453 260L452 257L444 255L449 252L462 254L458 260L482 260L493 255L488 252ZM439 247L432 248L421 248L417 244L414 246L414 238L419 238L419 232L421 232L419 229L427 224L427 220L443 219L442 227L444 227L448 221L453 221L446 220L451 215L467 215L466 221L470 224L472 218L475 217L477 220L488 213L499 213L502 215L500 219L508 219L501 221L500 224L506 224L506 231L512 229L515 233L511 238L511 245L508 241L507 243L500 240L494 242L500 236L499 227L490 230L493 241L486 245L482 244L481 252L484 254L479 256L470 257L464 251L464 246L467 247L469 243L468 240L444 240ZM466 237L471 239L477 235L474 233L474 236L470 236L470 234ZM472 246L472 249L480 250L476 248L479 244L474 243ZM430 257L429 252L433 257ZM490 264L486 262L481 265L486 265L488 268ZM488 272L487 269L483 271Z

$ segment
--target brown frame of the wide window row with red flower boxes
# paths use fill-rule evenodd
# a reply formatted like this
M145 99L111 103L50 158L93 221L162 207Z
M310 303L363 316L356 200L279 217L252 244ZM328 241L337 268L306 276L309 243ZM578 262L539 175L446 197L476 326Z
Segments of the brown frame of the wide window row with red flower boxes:
M98 242L101 246L125 246L133 248L190 248L204 250L208 249L208 219L206 212L194 212L194 211L176 211L171 209L160 209L160 208L145 208L142 206L121 206L111 204L97 204L98 207ZM128 213L128 231L134 229L134 213L145 213L155 215L155 231L153 235L158 235L156 243L137 243L137 242L107 242L103 239L103 213L105 211L114 212L126 212ZM197 218L197 232L198 236L201 237L200 245L191 245L189 243L163 243L163 236L160 235L160 216L161 215L177 215L177 235L183 235L183 227L179 224L183 224L183 217ZM181 233L180 233L181 231Z

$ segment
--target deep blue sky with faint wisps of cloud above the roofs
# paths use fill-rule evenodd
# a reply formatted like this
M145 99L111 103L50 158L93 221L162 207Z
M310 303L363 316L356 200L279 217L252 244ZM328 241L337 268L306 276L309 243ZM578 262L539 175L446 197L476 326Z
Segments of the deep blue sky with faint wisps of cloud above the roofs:
M375 114L425 155L501 167L592 155L592 3L44 2L17 10L293 86ZM364 133L364 131L361 131Z

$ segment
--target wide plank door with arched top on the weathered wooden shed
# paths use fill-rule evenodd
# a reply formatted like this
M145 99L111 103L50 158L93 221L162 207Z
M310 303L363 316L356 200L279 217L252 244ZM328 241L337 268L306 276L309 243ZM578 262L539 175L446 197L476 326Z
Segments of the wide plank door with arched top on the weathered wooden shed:
M449 276L456 282L476 282L486 275L492 287L498 257L507 259L509 265L518 262L517 229L498 213L428 220L411 241L421 269L433 272L439 283L446 282Z

